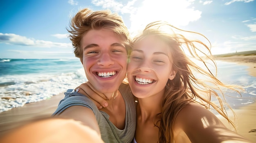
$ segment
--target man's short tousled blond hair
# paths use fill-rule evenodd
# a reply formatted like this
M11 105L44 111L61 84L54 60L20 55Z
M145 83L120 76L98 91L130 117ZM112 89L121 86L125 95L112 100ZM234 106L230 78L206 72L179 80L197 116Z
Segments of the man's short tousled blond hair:
M124 42L129 54L131 49L131 40L129 31L125 26L121 16L112 13L110 10L92 11L88 8L79 10L71 19L69 38L72 41L74 54L82 61L83 51L81 48L81 39L88 31L92 29L110 29Z

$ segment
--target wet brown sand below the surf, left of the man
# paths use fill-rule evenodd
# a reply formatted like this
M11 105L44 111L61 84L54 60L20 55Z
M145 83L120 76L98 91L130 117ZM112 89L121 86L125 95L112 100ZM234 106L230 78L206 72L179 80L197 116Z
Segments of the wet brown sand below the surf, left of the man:
M54 95L52 98L27 103L22 107L13 108L0 113L0 136L8 130L31 120L47 118L56 110L58 103L64 98L64 94Z

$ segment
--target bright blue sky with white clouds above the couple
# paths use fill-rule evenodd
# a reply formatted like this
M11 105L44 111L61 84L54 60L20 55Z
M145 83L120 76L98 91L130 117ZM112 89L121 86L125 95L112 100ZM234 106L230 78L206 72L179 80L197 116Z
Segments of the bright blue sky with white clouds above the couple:
M256 0L1 0L0 58L75 58L66 28L86 7L118 13L131 33L157 20L202 33L213 55L256 50Z

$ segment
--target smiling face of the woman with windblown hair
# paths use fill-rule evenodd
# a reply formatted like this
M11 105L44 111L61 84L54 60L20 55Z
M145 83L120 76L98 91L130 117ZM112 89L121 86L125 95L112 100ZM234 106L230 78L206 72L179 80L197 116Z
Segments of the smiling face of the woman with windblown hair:
M153 35L135 43L127 71L133 95L147 98L164 94L168 79L175 77L169 48L165 42Z

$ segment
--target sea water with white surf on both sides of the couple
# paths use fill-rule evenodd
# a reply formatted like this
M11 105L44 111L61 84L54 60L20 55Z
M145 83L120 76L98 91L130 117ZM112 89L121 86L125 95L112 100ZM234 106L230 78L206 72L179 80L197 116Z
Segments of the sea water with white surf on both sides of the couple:
M245 87L242 98L227 97L232 108L256 100L256 77L247 66L217 61L218 78ZM87 81L79 59L0 59L0 112L49 99ZM232 94L232 93L231 93Z

